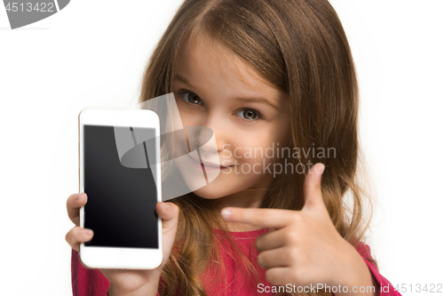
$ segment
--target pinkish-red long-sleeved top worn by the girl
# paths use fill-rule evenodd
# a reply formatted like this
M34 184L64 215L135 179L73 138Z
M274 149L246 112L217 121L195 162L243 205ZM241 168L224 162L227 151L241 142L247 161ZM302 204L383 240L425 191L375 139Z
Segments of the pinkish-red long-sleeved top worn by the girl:
M202 275L202 282L205 284L205 289L210 296L250 296L258 295L263 292L264 296L274 295L273 284L269 284L266 281L266 269L258 267L258 250L255 246L255 241L258 236L263 235L267 228L262 228L247 232L229 232L229 234L238 243L239 251L242 252L258 270L258 274L261 277L259 282L255 282L248 275L242 273L243 268L240 268L240 260L235 259L234 251L226 240L221 236L221 231L213 229L214 234L220 238L218 242L222 246L221 254L226 264L226 280L228 283L224 283L224 276L218 276L217 270L207 270ZM377 279L380 287L381 296L400 296L399 292L396 292L392 286L381 276L372 263L366 259L371 259L370 248L367 244L360 243L356 250L361 254L362 259L367 263L373 276ZM216 279L222 278L221 281ZM99 271L99 269L84 268L79 260L79 253L72 251L71 258L71 279L73 285L73 296L106 296L109 288L109 282L105 276ZM331 287L334 292L335 287ZM334 295L334 293L332 293Z

